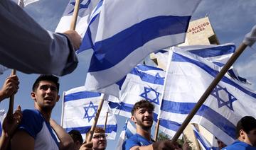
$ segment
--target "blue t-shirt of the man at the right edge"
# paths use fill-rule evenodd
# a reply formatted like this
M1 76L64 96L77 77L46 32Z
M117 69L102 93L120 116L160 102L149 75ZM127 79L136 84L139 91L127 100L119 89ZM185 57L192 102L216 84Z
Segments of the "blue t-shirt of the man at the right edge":
M223 150L256 150L256 147L252 147L245 142L236 140L233 144L224 147Z

